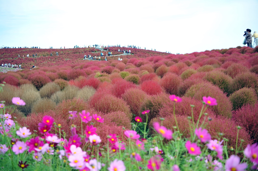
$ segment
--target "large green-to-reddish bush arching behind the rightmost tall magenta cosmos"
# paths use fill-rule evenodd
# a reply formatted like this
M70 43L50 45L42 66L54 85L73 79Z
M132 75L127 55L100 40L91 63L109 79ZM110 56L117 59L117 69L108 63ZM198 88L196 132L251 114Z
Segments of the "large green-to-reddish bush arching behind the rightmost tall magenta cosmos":
M203 96L211 96L217 100L216 106L211 106L211 109L215 114L231 117L232 113L232 104L230 103L229 98L224 94L221 89L217 86L212 85L211 83L199 83L191 86L186 94L186 97L193 97L199 101L203 99Z

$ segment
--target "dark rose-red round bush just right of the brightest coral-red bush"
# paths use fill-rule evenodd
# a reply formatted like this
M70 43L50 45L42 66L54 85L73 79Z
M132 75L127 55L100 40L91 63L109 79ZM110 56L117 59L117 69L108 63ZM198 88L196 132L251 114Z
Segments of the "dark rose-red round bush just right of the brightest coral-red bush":
M167 73L160 80L159 84L165 89L166 93L177 94L178 86L181 84L182 79L173 73Z

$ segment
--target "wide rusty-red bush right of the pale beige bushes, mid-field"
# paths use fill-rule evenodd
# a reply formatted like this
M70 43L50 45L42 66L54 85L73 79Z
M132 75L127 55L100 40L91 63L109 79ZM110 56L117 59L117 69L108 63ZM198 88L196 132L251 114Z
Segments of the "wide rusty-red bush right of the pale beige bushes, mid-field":
M95 95L93 95L89 101L90 106L93 107L96 111L102 112L104 114L122 111L125 112L130 119L132 119L129 106L123 99L117 98L110 94L103 94L102 96L97 95L98 94L95 93ZM98 97L97 100L95 100L96 97Z

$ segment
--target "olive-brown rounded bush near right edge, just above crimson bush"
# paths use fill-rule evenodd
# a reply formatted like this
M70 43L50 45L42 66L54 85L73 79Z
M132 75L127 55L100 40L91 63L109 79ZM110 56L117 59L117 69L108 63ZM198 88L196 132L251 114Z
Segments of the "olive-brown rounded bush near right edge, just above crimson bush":
M237 110L246 104L254 104L257 102L256 92L253 88L240 88L229 96L233 105L233 110Z

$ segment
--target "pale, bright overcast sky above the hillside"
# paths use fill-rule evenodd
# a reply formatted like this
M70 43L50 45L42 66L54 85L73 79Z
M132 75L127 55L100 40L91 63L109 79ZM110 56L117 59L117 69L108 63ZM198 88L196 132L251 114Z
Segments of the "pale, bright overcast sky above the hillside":
M0 47L93 44L192 53L244 46L258 0L0 0Z

